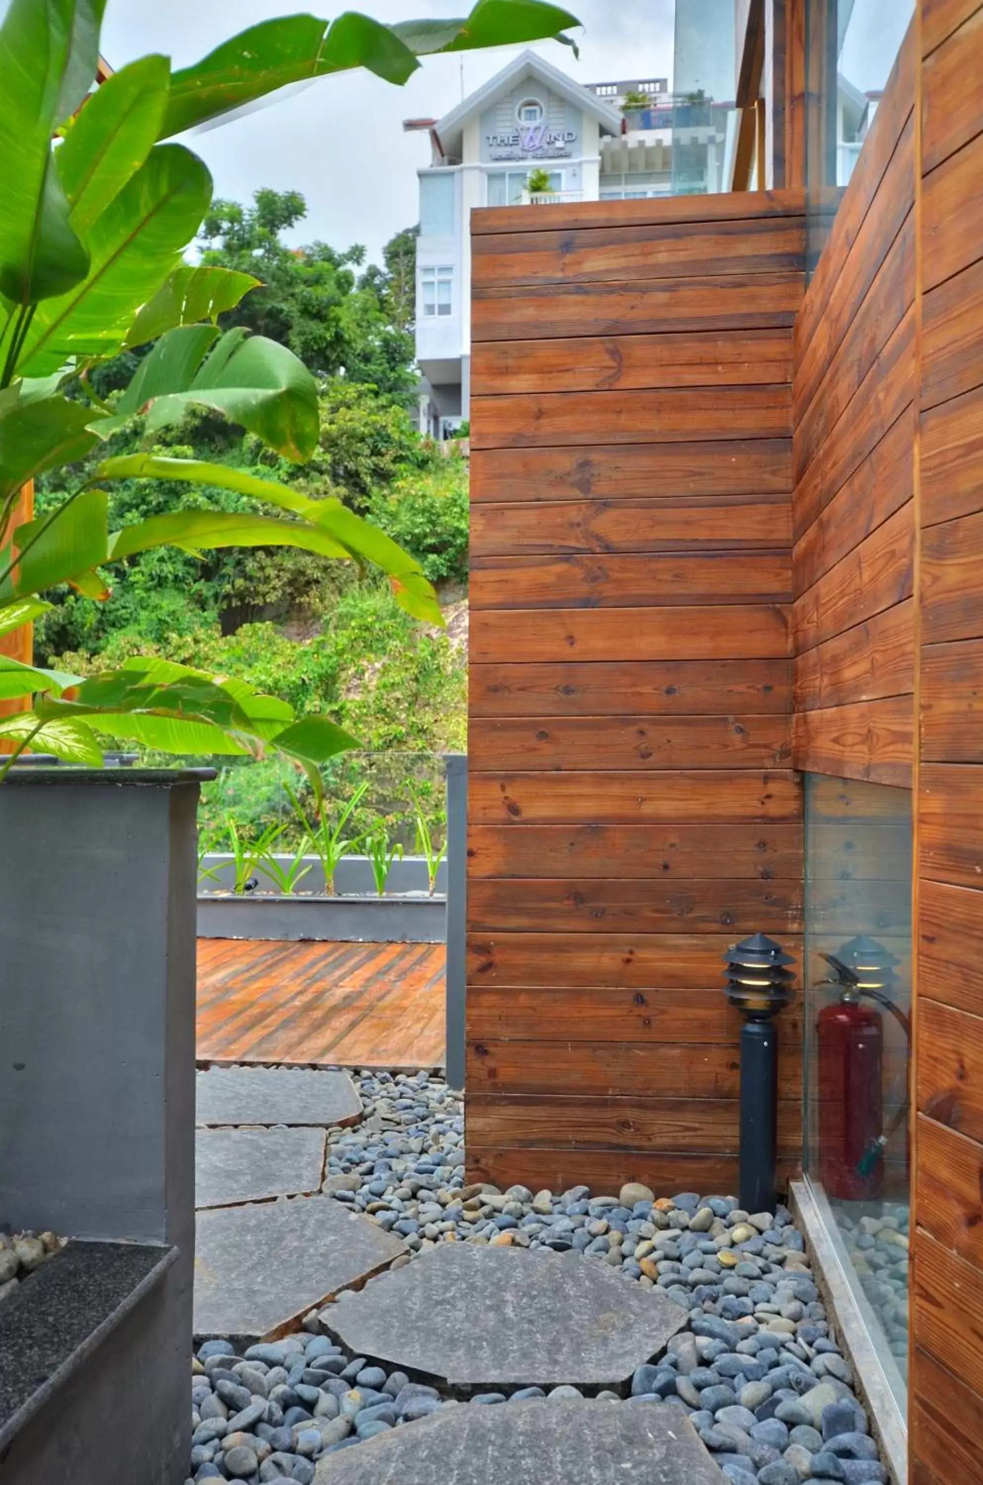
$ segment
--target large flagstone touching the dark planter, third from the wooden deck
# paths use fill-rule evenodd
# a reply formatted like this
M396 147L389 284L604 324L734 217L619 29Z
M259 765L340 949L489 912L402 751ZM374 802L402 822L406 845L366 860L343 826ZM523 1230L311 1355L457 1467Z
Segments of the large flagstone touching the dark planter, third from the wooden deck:
M404 1250L333 1197L199 1212L195 1335L260 1341Z

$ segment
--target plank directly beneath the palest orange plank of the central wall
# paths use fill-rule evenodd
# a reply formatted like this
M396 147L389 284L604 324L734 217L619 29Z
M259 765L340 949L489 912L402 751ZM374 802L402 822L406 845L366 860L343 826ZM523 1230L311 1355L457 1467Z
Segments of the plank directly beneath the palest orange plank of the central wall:
M791 661L555 661L471 665L472 717L717 716L790 710Z

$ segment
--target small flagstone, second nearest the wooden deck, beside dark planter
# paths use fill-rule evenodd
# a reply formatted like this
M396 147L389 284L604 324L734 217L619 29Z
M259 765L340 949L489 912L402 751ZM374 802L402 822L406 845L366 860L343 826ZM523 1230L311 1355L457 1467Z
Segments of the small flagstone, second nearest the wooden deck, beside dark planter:
M195 1206L229 1206L315 1192L324 1172L322 1129L199 1129Z

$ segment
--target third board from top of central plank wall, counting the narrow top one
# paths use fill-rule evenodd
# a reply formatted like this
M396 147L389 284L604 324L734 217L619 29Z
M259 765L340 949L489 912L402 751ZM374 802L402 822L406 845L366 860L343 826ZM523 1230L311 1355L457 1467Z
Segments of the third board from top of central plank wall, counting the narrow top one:
M662 331L788 330L803 275L732 273L640 284L508 285L475 290L471 337L543 340L554 336L643 336Z

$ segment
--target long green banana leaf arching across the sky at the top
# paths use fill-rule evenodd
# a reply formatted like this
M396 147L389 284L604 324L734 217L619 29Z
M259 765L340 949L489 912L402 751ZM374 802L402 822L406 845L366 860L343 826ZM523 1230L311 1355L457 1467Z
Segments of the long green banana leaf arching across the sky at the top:
M434 24L441 28L440 36L426 21L383 27L355 12L340 15L333 24L313 15L263 21L193 67L174 73L160 138L217 119L287 83L352 67L367 67L386 82L402 83L417 67L417 52L533 42L557 36L564 25L579 21L541 0L478 0L469 16Z

